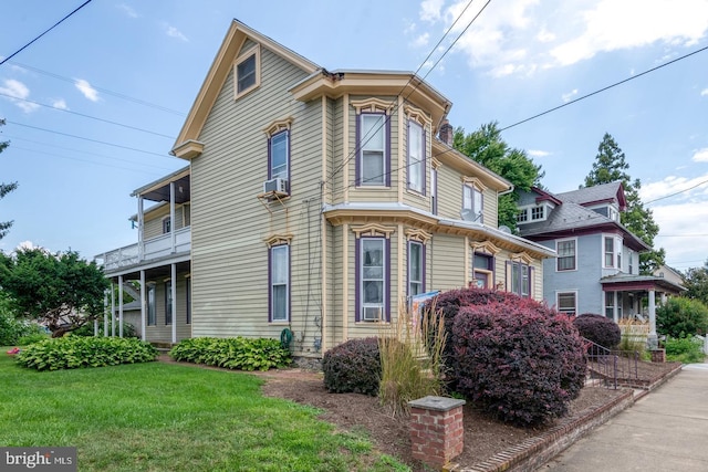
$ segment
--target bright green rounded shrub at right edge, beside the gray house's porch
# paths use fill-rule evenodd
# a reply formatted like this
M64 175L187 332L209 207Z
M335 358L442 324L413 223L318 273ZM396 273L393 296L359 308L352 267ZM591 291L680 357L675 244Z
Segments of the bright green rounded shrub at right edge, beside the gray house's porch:
M669 298L656 307L656 331L671 337L702 336L708 331L708 307L698 300Z

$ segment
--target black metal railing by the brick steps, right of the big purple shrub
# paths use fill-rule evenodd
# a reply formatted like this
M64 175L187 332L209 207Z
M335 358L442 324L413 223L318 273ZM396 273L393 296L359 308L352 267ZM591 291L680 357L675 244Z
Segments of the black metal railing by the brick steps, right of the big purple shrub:
M633 385L639 378L639 353L612 350L590 339L587 345L587 371L591 379L600 379L607 388Z

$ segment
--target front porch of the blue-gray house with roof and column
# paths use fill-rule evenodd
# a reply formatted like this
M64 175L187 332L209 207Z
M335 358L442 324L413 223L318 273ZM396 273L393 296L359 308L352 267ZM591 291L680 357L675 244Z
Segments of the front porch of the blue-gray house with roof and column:
M615 323L623 319L648 322L647 344L656 348L656 306L663 305L668 296L679 295L684 289L667 279L655 275L633 275L620 273L600 280L602 284L605 316ZM646 303L645 303L646 301Z

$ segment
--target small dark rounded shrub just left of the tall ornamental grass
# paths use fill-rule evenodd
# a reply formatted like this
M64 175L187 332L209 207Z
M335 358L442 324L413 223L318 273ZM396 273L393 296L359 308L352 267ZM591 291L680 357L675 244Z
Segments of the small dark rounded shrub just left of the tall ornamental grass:
M324 387L336 394L378 394L381 356L378 339L350 339L324 353L322 357Z

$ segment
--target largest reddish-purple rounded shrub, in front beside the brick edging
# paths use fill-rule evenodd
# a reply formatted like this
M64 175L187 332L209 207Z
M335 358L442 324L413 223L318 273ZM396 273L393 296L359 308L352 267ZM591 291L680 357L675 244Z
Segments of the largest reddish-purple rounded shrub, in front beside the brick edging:
M467 306L452 327L457 391L523 426L565 415L586 367L584 343L570 319L531 305Z

